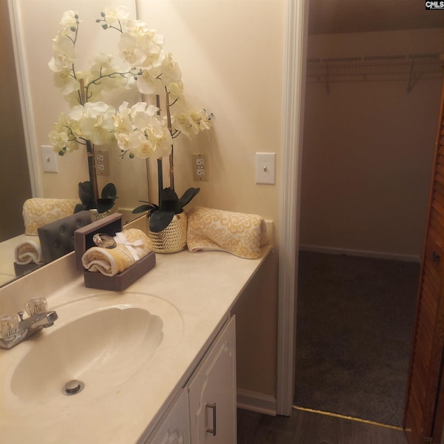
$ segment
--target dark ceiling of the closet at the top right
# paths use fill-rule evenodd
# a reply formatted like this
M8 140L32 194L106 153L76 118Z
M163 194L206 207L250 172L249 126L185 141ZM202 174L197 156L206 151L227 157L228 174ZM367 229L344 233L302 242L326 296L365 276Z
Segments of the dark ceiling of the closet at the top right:
M309 34L444 28L444 10L425 0L309 0Z

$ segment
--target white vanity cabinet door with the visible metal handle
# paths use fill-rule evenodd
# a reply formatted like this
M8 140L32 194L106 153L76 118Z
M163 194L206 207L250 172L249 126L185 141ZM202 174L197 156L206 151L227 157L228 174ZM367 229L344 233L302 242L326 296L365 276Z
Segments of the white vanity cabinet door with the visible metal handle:
M223 327L188 384L192 444L235 444L236 328Z

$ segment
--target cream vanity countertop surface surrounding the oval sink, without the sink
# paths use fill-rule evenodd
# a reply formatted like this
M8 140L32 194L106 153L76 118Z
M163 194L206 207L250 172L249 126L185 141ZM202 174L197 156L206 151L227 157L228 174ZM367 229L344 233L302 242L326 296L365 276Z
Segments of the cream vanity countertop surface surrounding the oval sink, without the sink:
M120 390L119 386L110 387L100 403L92 402L86 406L81 404L81 393L60 396L60 400L51 404L29 404L26 411L22 401L15 403L2 396L0 442L128 444L137 442L141 436L148 436L175 393L187 382L221 325L230 316L234 302L270 250L271 247L264 247L259 259L240 259L219 252L189 253L187 250L156 255L155 268L123 293L144 293L162 298L180 313L182 325L178 328L182 328L182 336L168 362L161 368L151 368L149 374L137 375L126 383L124 390ZM46 273L49 278L51 264L35 273ZM26 277L24 280L27 290L32 282L30 279ZM3 298L10 298L11 288L3 292ZM2 290L0 305L10 307L10 300L2 300ZM86 289L82 277L47 294L46 298L51 309L72 298L84 298L92 293L110 292ZM122 296L112 293L110 298L113 294ZM49 330L51 328L42 334L50 334ZM44 337L39 340L44 340ZM32 343L25 342L16 348L20 347L31 349ZM1 354L13 350L0 350L0 372L3 375L8 369L1 366ZM79 408L73 409L76 402Z

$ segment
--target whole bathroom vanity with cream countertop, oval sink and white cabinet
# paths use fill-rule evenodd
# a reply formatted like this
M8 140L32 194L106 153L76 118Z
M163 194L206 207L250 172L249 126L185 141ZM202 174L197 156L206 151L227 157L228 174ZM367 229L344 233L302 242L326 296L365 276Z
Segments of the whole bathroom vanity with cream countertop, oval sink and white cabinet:
M235 443L230 311L270 250L156 255L121 293L85 288L71 253L1 288L1 314L44 296L58 320L0 350L0 442Z

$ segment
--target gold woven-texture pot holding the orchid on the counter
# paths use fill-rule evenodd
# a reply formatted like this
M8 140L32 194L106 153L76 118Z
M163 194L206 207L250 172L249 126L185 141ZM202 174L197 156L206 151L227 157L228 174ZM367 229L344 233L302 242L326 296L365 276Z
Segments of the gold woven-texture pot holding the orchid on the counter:
M146 234L153 243L155 253L178 253L187 246L188 216L184 211L174 214L173 220L167 228L160 232L152 232L149 227L149 219L146 218Z

